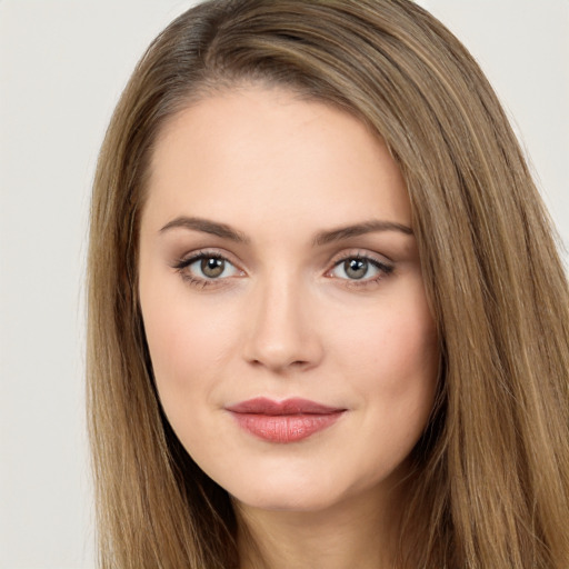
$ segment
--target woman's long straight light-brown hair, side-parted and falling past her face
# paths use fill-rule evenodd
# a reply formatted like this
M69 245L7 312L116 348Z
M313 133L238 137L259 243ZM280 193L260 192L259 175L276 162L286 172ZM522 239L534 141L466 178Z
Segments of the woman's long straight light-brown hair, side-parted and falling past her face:
M413 451L399 566L567 569L567 277L492 89L409 0L212 0L176 19L139 62L104 139L91 209L88 406L101 567L238 565L229 497L160 408L137 248L164 121L243 82L353 113L385 139L407 182L443 361Z

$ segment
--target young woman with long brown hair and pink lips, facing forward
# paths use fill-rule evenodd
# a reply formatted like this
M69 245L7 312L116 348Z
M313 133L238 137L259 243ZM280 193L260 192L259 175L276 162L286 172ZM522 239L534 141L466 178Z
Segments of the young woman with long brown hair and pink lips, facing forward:
M567 567L567 279L422 9L179 17L116 110L90 239L102 567Z

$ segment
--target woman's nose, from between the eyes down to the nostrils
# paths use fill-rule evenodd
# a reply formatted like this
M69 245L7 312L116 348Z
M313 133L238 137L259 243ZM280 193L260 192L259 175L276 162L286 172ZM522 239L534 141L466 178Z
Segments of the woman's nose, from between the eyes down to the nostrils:
M277 373L308 370L323 356L313 303L300 282L272 276L252 291L243 356Z

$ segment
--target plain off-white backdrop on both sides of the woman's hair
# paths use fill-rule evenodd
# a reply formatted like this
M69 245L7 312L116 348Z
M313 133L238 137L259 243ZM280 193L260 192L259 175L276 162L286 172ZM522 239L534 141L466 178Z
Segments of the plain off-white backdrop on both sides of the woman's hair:
M89 191L118 96L191 0L0 0L0 568L94 567ZM473 52L569 243L569 0L423 0ZM566 257L567 259L567 257Z

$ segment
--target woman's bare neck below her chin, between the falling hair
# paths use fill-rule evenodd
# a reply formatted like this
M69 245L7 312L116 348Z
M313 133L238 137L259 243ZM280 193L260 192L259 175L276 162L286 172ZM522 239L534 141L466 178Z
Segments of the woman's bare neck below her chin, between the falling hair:
M240 569L391 569L400 492L360 495L320 511L236 503Z

